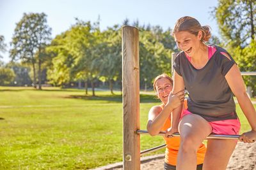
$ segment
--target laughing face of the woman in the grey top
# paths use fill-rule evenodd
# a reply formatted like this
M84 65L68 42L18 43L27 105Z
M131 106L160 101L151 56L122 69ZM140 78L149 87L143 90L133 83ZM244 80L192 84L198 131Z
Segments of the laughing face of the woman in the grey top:
M198 32L195 36L188 31L179 31L174 34L175 42L180 50L184 51L187 55L192 57L200 48L202 38L202 31Z

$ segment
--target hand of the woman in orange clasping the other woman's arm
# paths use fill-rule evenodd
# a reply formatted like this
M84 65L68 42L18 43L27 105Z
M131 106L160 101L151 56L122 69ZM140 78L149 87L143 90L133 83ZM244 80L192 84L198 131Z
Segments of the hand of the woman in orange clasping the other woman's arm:
M179 92L177 92L176 94L172 94L172 92L169 94L168 96L168 102L166 105L168 106L172 106L172 108L177 108L178 106L180 106L180 104L183 103L184 98L185 98L185 90L180 90Z

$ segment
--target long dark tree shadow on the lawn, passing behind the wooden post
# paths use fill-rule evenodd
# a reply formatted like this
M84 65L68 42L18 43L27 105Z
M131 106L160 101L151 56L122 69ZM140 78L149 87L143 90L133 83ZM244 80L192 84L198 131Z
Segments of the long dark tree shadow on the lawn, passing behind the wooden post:
M101 95L101 96L83 96L83 95L70 95L65 98L70 99L83 99L83 100L92 100L92 101L111 101L115 103L122 103L121 95ZM140 103L159 103L159 100L155 96L140 94Z

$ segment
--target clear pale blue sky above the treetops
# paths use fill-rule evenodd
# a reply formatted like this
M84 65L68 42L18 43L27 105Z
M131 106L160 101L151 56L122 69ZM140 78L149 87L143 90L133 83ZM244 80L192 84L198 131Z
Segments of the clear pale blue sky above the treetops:
M166 30L184 16L195 17L219 36L218 25L211 15L217 5L218 0L0 0L0 35L4 36L9 51L16 23L23 13L44 12L52 28L52 38L70 29L76 23L75 18L91 22L100 18L101 30L121 25L125 18L130 23L139 20L141 25L160 25ZM8 52L1 55L4 62L10 61Z

